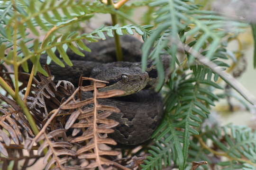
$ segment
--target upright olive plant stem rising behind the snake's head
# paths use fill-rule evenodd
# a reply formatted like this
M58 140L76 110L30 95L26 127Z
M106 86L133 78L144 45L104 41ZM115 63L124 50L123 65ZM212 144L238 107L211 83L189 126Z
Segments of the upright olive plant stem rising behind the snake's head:
M108 5L114 5L113 1L108 0ZM112 26L115 26L115 25L118 24L116 14L111 14L111 19L112 19ZM115 43L116 43L116 59L117 59L117 61L122 61L123 60L123 53L122 53L122 48L121 48L119 35L115 32L114 37L115 37Z

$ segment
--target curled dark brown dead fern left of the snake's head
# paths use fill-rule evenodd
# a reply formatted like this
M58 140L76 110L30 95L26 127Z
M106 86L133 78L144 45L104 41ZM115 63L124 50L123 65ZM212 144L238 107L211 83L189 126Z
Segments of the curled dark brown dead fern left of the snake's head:
M49 77L40 73L38 73L37 77L33 77L30 92L26 97L27 105L38 124L42 124L42 121L48 118L48 112L58 108L62 100L70 96L74 91L72 83L65 80L55 83L54 76L51 76L50 71L48 71L48 74L50 75ZM30 75L20 73L20 76L23 83L20 89L23 89L27 87Z

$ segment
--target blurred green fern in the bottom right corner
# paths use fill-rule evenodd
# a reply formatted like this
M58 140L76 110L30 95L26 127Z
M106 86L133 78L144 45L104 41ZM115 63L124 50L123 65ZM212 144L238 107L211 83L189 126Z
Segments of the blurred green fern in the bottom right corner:
M221 170L255 170L256 169L256 132L249 127L227 125L207 128L197 137L200 142L193 143L194 148L203 148L204 155L214 152L228 161L220 159L217 163ZM207 146L211 141L214 151ZM190 155L191 156L191 155ZM194 156L192 156L194 158ZM205 159L204 159L205 160Z

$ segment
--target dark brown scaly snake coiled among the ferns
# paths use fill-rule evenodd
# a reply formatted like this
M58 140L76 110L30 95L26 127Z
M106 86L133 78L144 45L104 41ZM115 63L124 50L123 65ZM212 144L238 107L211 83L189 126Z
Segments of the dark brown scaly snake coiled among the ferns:
M108 118L119 122L114 133L108 134L119 144L137 145L150 139L155 128L163 117L163 100L154 91L157 83L157 70L153 60L146 63L146 71L141 69L141 47L137 38L124 35L120 38L123 61L116 61L114 38L88 43L91 51L80 50L85 57L77 52L67 50L73 66L65 64L65 68L54 64L49 65L55 80L67 80L78 86L79 77L87 76L109 82L104 89L124 91L123 96L99 99L100 104L119 108L120 113L112 113ZM162 56L164 68L168 68L168 59ZM45 64L46 58L40 62ZM88 99L88 93L82 93L82 99Z

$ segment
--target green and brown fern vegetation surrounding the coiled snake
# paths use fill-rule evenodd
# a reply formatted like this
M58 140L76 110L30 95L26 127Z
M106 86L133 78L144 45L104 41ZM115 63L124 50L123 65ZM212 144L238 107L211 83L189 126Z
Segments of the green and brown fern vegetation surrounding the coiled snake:
M230 51L228 44L239 44L238 35L250 27L256 39L256 26L248 16L227 17L206 6L205 1L198 5L194 0L0 0L2 169L26 169L43 157L46 170L256 170L255 130L221 127L213 110L220 99L230 98L247 108L255 106L255 97L235 79L244 72L238 68L245 59L241 45ZM141 21L131 19L137 8L145 9ZM111 15L112 26L84 31L84 25L95 21L99 13ZM84 42L105 40L106 36L115 37L117 60L122 60L119 36L124 34L143 38L142 68L146 69L147 59L154 60L159 77L155 90L165 97L165 118L152 136L154 144L142 145L136 152L100 147L116 144L99 136L113 132L117 122L107 117L119 109L97 105L97 99L121 91L100 93L97 88L106 82L96 79L90 79L93 85L77 89L65 80L55 85L50 71L39 62L46 53L48 62L64 67L64 61L72 66L68 48L83 56L79 49L90 51ZM160 58L164 52L170 57L168 75ZM20 67L28 72L28 60L34 64L31 73L19 72ZM94 95L80 101L76 96L81 91L94 91ZM82 109L91 103L93 108ZM83 136L73 137L80 131Z

